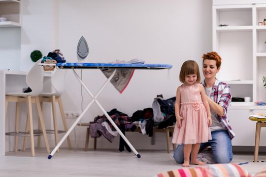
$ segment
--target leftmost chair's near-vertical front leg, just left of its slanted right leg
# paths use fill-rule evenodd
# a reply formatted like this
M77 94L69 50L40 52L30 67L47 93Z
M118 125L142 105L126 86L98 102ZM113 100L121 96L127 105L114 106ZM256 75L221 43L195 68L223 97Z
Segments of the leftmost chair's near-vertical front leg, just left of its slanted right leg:
M30 150L31 150L31 155L35 156L31 96L26 97L26 102L27 102L27 110L28 110L28 116L29 116Z

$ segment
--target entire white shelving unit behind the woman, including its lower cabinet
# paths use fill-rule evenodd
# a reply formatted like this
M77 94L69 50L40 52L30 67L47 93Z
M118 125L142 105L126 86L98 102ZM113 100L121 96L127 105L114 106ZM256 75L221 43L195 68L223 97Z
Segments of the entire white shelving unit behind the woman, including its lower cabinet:
M254 146L256 125L248 117L266 113L266 106L254 104L266 100L262 83L266 76L266 25L258 25L264 18L265 0L213 0L213 51L222 58L217 77L230 85L232 97L251 97L251 102L229 106L227 116L236 134L233 146ZM260 146L266 146L266 141Z

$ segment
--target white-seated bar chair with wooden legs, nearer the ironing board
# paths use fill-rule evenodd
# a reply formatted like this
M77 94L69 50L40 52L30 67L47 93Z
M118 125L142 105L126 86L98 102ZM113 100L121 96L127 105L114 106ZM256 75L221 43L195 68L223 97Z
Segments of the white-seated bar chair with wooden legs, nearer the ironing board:
M54 91L51 93L41 93L40 94L41 103L42 102L50 102L52 104L54 130L47 130L47 132L54 134L55 145L57 145L57 143L58 143L58 133L68 131L67 121L65 121L65 114L64 114L62 100L61 100L61 95L64 92L64 80L65 80L65 74L66 73L67 73L67 70L55 69L54 73L52 75L52 78L51 78L51 83L52 83ZM56 118L56 109L55 109L56 102L59 105L62 123L64 126L64 131L58 130L58 128L57 128L57 118ZM72 149L70 138L68 137L67 140L68 140L69 149ZM38 146L40 146L40 138L38 138Z

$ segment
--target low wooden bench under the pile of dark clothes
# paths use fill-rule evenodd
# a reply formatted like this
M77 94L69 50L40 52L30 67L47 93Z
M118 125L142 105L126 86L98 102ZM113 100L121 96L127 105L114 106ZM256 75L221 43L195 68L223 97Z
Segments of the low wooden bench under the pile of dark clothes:
M88 147L89 147L89 123L79 123L79 126L88 126L87 130L86 130L86 142L85 142L85 148L84 151L88 151ZM175 126L168 126L167 128L163 128L163 129L158 129L158 128L154 128L153 132L165 132L166 138L167 138L167 152L170 153L170 132L173 135L174 132L174 128ZM139 126L137 126L135 131L130 131L130 132L141 132L141 128ZM95 150L97 148L97 138L94 138L94 146L93 149ZM175 151L176 149L176 144L173 144L173 150Z

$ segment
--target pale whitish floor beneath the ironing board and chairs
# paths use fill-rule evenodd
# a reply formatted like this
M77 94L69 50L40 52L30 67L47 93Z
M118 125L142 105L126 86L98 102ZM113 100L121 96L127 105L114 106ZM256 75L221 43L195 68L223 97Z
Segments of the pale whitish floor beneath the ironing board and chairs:
M0 157L0 176L154 176L162 171L181 168L171 154L165 151L138 150L141 158L134 153L116 150L68 150L60 149L51 159L45 149L36 149L36 156L30 156L30 150L25 152L8 152ZM259 160L252 162L252 154L235 154L232 163L242 165L251 174L266 167L266 155L260 155ZM196 165L191 165L194 167Z

